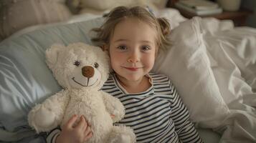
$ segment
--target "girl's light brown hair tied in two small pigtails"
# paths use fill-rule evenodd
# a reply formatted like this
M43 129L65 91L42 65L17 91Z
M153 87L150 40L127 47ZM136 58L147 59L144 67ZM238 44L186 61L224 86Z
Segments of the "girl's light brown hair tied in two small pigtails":
M118 6L110 11L104 24L100 26L100 28L92 29L97 33L96 37L93 38L92 41L96 42L98 46L108 44L115 26L120 23L120 21L127 18L136 18L156 29L156 44L159 49L165 48L166 45L170 44L169 39L166 38L166 36L171 32L171 27L167 19L156 18L153 16L153 14L141 6L134 6L131 8L126 6Z

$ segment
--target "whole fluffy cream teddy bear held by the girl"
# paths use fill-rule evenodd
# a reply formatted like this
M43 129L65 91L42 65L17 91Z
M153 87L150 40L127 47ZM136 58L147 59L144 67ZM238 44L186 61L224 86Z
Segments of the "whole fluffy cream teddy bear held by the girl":
M105 51L80 42L53 44L46 51L46 62L63 89L29 112L29 125L37 133L62 127L77 114L85 116L93 132L87 142L136 142L133 129L113 125L125 115L123 104L100 90L110 72Z

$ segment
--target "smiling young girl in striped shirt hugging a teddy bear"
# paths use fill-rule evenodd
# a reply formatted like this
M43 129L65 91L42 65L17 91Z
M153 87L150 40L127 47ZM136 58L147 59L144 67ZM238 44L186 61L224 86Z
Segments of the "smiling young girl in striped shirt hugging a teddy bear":
M103 91L120 99L125 117L118 124L133 128L137 142L202 142L189 111L168 77L150 73L159 49L169 44L168 21L140 6L120 6L110 12L97 41L110 56L113 73ZM93 136L85 117L77 116L49 134L52 142L84 142Z

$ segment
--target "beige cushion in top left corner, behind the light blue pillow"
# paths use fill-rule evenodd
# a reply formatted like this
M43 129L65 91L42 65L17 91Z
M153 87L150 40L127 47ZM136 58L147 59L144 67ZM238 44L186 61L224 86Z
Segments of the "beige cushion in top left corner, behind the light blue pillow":
M1 39L27 26L64 21L71 16L63 0L2 0L0 6Z

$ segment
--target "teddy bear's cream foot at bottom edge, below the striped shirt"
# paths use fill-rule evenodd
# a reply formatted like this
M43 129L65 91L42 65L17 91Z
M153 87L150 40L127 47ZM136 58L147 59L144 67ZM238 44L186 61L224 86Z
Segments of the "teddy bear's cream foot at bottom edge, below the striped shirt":
M125 126L114 126L108 136L108 143L134 143L136 136L133 129Z

